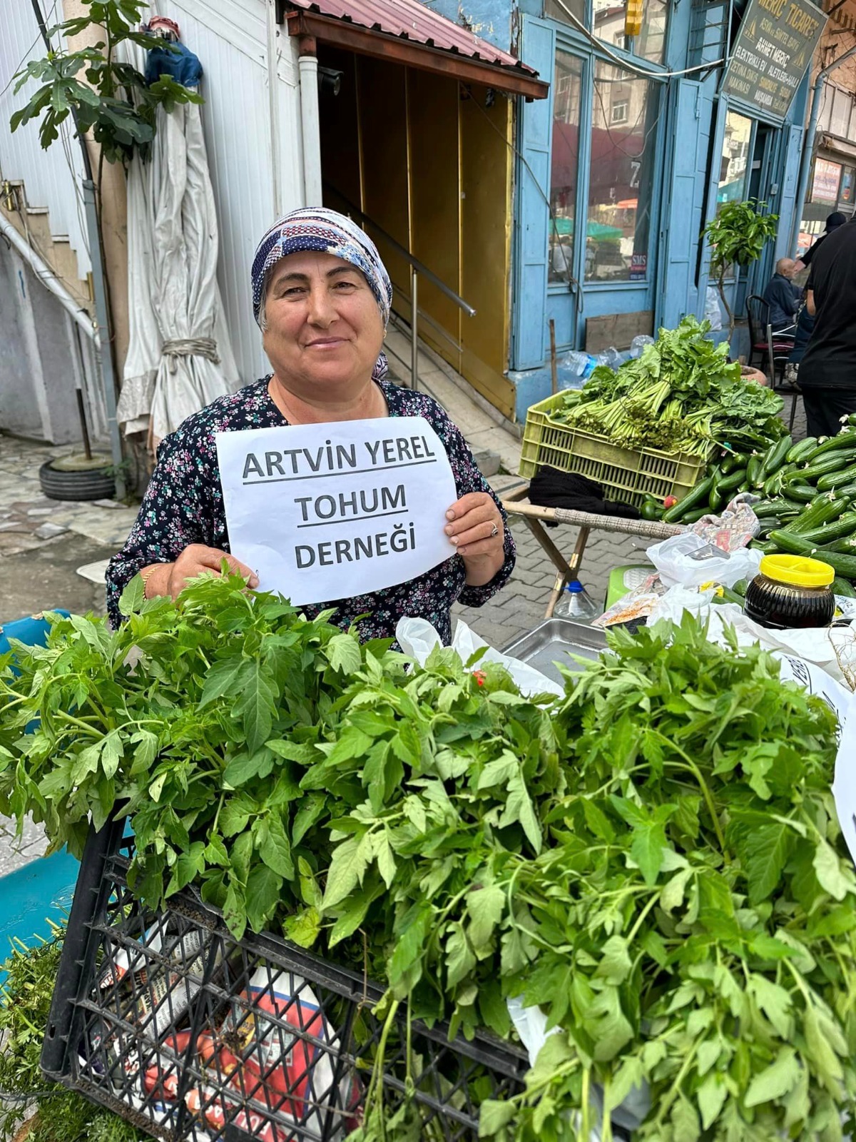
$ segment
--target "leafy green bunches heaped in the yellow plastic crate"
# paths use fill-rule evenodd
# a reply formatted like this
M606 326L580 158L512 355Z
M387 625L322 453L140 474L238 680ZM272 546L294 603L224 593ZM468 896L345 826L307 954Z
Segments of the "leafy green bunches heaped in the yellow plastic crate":
M782 397L743 380L740 364L727 362L727 344L709 340L709 329L692 316L677 329L661 329L653 345L617 371L595 369L552 416L622 448L706 457L717 444L766 447L784 433Z

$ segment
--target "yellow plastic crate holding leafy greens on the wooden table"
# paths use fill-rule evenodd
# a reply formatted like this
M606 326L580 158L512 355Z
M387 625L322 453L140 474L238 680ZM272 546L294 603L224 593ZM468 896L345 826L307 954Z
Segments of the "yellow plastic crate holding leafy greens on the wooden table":
M600 484L607 499L643 502L645 496L680 499L698 483L706 458L653 448L617 448L606 436L555 420L564 393L533 404L526 415L520 475L531 480L541 467L579 472Z

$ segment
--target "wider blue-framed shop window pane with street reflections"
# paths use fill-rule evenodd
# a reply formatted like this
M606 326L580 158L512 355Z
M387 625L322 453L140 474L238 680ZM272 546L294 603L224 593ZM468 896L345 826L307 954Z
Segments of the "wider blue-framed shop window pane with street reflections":
M623 104L627 116L613 119ZM659 85L598 63L586 227L586 280L645 281L660 110Z

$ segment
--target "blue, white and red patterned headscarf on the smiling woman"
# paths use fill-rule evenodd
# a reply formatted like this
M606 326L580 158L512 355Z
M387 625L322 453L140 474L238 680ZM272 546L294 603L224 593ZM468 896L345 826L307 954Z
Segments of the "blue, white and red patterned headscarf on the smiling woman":
M252 259L252 313L257 322L267 271L289 254L304 250L333 254L362 271L386 328L393 303L393 283L374 242L350 218L324 207L292 210L274 223L256 248Z

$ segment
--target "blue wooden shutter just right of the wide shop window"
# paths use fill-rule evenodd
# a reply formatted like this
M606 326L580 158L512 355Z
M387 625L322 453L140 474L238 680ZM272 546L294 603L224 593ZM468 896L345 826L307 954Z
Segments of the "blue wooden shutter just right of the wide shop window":
M672 159L667 182L665 242L657 291L656 324L673 329L687 313L704 309L696 290L698 242L704 225L706 169L713 120L713 88L695 80L675 85L671 102ZM701 293L701 298L698 297Z

